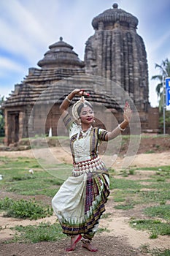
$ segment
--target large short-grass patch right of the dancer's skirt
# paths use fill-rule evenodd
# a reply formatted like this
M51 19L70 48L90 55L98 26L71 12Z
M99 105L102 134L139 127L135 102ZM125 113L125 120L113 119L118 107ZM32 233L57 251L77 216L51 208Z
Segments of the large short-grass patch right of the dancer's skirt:
M146 173L151 170L151 174L147 175L148 178L131 180L128 177L136 175L140 170ZM123 171L118 173L118 176L123 178L111 177L111 189L115 202L123 202L127 198L132 197L135 204L139 203L160 203L164 204L170 198L170 166L163 167L150 167L150 168L134 168L126 170L126 176ZM144 183L144 184L143 184Z

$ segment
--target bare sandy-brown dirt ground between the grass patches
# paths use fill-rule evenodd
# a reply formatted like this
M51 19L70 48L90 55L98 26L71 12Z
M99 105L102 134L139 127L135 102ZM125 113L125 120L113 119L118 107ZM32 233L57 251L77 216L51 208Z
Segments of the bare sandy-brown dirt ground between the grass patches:
M159 145L159 146L158 146ZM153 149L155 153L144 154L149 149ZM53 154L58 155L58 159L64 162L72 162L71 156L62 148L51 148ZM144 140L141 142L138 154L131 162L131 167L159 167L161 165L170 165L170 143L168 140ZM0 156L8 157L34 157L33 151L0 151ZM116 157L112 167L119 171L122 166L123 156ZM131 178L148 178L150 172L138 171L135 176ZM1 192L2 197L13 197L14 195L7 192ZM38 197L37 197L38 198ZM42 198L41 198L42 199ZM45 198L47 200L47 198ZM98 252L88 252L82 248L81 242L77 244L74 252L66 252L66 246L69 246L69 238L65 238L62 241L56 242L41 242L36 244L4 244L4 241L9 240L12 237L12 230L10 227L15 225L35 225L39 222L51 222L56 221L55 216L39 219L38 221L18 220L12 218L4 218L0 215L0 255L2 256L142 256L151 255L149 252L144 251L147 249L169 249L170 240L169 236L160 236L156 239L150 239L150 234L144 231L139 231L131 228L128 224L131 217L142 218L142 207L136 206L134 209L123 211L115 210L115 203L112 197L106 205L106 213L109 217L100 220L100 227L106 229L106 232L97 233L93 239L93 244L98 247Z

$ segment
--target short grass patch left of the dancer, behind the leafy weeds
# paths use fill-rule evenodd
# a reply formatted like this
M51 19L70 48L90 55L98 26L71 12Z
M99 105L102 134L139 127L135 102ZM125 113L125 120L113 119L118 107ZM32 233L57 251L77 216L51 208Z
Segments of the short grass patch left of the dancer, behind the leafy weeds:
M0 173L3 179L0 189L18 195L47 195L53 197L63 181L53 178L35 159L18 157L9 159L0 157ZM34 174L29 170L34 170Z

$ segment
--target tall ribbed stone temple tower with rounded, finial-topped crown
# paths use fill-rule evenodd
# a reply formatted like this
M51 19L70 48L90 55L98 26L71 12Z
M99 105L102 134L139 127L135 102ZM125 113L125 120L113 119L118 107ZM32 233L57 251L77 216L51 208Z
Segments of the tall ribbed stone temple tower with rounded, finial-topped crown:
M95 33L85 47L85 72L114 81L128 92L139 111L147 111L147 53L136 33L138 19L113 4L93 18Z

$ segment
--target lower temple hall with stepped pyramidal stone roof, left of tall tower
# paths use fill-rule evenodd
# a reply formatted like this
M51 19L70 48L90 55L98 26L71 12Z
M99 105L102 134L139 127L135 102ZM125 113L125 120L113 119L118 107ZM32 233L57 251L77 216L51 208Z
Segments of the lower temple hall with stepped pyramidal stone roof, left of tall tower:
M54 86L59 80L77 75L84 75L84 62L78 58L72 45L63 41L60 37L58 42L49 46L50 50L44 55L44 58L38 62L39 68L31 67L28 69L28 75L24 80L15 85L15 90L9 95L4 102L5 116L5 140L4 143L9 145L18 142L21 138L28 138L28 120L31 111L39 100L43 92L42 104L34 111L32 118L33 127L37 134L41 134L42 116L49 103L53 103L53 108L47 116L45 132L48 133L50 127L53 129L53 135L57 134L57 122L60 118L59 104L55 104L56 99L63 97L68 91L72 91L69 85ZM50 89L51 88L51 89ZM47 90L48 89L48 90Z

